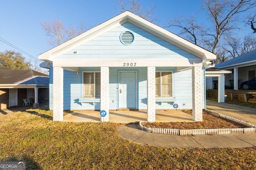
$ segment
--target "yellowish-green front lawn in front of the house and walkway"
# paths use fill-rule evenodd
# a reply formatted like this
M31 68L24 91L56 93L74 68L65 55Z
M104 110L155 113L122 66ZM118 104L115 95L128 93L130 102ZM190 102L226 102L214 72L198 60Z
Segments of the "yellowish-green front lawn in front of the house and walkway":
M256 169L256 149L173 149L120 138L118 123L53 122L36 109L0 116L0 161L27 169Z

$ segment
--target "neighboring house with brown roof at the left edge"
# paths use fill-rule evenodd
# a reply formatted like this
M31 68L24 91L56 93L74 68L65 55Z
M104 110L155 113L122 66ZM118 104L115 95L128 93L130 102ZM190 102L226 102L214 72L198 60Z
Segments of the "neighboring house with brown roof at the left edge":
M49 98L49 76L34 70L0 67L0 109L22 106L23 99L38 103ZM39 100L39 101L38 101Z

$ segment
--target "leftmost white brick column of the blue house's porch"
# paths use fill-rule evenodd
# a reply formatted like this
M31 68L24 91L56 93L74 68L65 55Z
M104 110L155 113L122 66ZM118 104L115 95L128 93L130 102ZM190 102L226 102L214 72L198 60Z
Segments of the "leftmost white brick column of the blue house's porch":
M53 121L63 121L62 67L53 67Z

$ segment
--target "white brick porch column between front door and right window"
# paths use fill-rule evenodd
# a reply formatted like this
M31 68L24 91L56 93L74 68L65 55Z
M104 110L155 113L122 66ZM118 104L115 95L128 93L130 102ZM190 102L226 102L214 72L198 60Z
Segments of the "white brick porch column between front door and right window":
M156 67L148 67L148 121L156 121Z

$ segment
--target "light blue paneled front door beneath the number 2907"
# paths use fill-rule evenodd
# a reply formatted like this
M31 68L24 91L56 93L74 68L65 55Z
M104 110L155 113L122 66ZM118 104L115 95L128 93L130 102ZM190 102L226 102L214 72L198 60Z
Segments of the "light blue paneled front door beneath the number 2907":
M119 77L119 108L136 108L136 72L120 72Z

